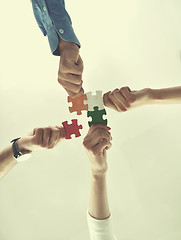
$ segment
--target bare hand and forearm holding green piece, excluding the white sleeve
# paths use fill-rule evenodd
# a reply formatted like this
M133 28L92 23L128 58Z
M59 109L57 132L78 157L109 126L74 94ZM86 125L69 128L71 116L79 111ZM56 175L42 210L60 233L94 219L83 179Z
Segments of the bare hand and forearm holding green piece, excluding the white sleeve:
M111 147L111 134L106 125L92 125L84 138L92 172L89 214L98 220L110 216L107 196L106 173L108 170L106 151Z

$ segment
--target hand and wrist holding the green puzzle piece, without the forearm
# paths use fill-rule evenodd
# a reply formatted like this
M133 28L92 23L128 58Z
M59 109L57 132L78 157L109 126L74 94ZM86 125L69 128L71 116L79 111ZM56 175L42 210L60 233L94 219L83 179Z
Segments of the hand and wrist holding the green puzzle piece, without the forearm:
M104 124L93 124L83 141L94 176L107 172L106 150L112 146L108 129Z

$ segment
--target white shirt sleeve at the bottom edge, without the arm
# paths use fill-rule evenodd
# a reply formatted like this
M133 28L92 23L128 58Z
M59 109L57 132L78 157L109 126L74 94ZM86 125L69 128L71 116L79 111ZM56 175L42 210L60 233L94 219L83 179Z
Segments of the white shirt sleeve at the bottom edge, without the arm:
M117 240L112 230L112 217L98 220L87 211L87 223L91 240Z

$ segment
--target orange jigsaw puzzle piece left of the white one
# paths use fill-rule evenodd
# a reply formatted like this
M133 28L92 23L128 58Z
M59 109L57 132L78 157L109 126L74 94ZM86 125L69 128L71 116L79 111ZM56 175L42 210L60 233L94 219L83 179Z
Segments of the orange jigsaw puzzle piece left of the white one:
M81 111L88 110L88 104L84 104L84 100L87 100L86 94L75 99L68 96L68 102L72 102L72 107L69 107L70 113L77 112L77 115L81 115Z

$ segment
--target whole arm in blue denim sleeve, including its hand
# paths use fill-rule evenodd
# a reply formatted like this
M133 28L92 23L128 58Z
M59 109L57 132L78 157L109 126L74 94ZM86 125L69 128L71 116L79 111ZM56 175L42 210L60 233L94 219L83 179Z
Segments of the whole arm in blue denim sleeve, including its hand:
M80 43L72 28L72 21L65 9L64 0L32 0L36 21L48 36L51 52L60 56L58 82L67 93L76 98L82 88L83 61L79 55Z

